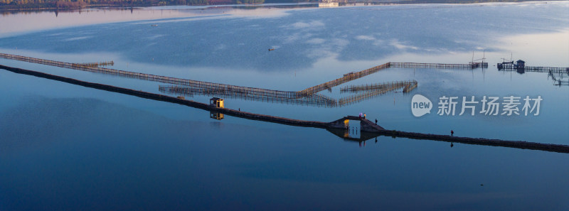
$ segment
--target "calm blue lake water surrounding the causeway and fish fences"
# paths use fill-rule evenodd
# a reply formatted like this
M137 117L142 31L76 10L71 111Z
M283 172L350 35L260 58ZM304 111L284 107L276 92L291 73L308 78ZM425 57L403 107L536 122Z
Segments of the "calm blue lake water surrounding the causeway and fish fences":
M319 93L339 99L351 95L340 92L346 85L418 81L413 92L343 107L235 98L225 107L314 121L365 112L386 129L569 144L569 86L495 67L502 58L569 67L568 1L317 6L4 14L0 53L284 91L388 62L486 58L485 69L389 68ZM147 92L166 85L0 64ZM413 116L414 94L432 101L430 114ZM0 95L0 210L569 210L566 153L383 136L358 143L5 70ZM437 114L443 96L459 97L454 116ZM537 116L479 114L482 104L459 115L472 96L521 97L520 109L526 96L543 101Z

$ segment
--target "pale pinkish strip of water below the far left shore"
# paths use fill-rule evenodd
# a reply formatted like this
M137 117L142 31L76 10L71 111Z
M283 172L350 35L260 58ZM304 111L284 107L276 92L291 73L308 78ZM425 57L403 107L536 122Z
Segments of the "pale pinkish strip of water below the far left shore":
M232 15L250 18L286 16L284 9L304 9L314 4L262 4L230 6L154 6L119 9L71 9L55 11L0 11L0 36L49 28L65 28L97 23L152 20L192 16ZM37 21L42 19L45 22Z

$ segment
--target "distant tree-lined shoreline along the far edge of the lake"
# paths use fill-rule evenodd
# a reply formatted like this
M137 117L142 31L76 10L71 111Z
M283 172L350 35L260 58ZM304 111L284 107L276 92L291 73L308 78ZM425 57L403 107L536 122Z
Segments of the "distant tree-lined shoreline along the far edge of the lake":
M262 0L261 0L262 1ZM368 5L384 5L384 4L479 4L479 3L501 3L501 2L526 2L526 1L543 1L546 0L401 0L401 1L347 1L340 0L340 4L368 4ZM547 0L547 1L565 1L565 0ZM43 3L43 4L0 4L0 12L19 12L19 11L75 11L80 9L133 9L135 7L150 7L150 6L235 6L236 4L226 4L223 2L221 4L215 4L213 1L208 4L152 4L139 3L139 4L122 4L117 1L117 4L86 4L77 3L78 1L73 1L71 3L75 4L64 4L63 6L55 6L55 2ZM84 1L80 1L84 2ZM165 1L161 1L165 2ZM334 1L336 2L336 1ZM213 3L213 4L212 4ZM298 0L265 0L262 3L246 3L237 4L243 6L262 6L263 4L286 4L286 3L319 3L319 1L298 1Z

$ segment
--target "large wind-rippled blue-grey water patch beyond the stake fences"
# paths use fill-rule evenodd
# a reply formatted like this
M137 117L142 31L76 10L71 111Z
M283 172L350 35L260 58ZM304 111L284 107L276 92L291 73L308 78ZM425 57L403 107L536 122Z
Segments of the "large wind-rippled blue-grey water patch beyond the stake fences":
M497 36L569 28L563 4L386 7L302 9L269 18L220 14L104 23L0 38L0 48L112 52L137 63L290 72L330 55L349 61L398 53L494 51L503 49L495 45Z

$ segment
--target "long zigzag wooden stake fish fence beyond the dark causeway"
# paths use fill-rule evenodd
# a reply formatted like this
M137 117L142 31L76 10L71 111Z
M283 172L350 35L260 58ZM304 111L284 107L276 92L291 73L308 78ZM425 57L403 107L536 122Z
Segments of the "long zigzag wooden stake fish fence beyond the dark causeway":
M224 85L213 82L203 82L198 80L188 80L177 77L166 77L161 75L151 75L140 72L130 72L125 70L115 70L105 67L100 67L100 65L114 65L113 61L105 63L64 63L55 60L44 60L40 58L31 58L21 55L11 55L6 53L0 53L0 58L7 58L11 60L21 60L28 63L38 63L42 65L52 65L55 67L63 67L74 70L82 70L87 72L97 72L107 75L116 75L119 77L129 77L139 80L149 80L154 82L162 82L171 85L179 86L162 86L159 87L161 92L168 92L171 94L183 94L186 96L193 96L193 94L199 95L213 95L217 94L225 97L240 97L244 99L255 99L260 101L269 102L286 102L294 104L310 104L322 107L336 107L342 104L357 102L361 99L366 99L368 97L376 96L378 94L383 94L390 90L395 90L403 87L403 92L410 92L415 87L417 87L417 82L403 82L404 84L398 84L402 82L393 82L393 84L388 85L388 87L383 87L383 89L370 90L368 93L358 94L351 97L344 97L336 101L321 94L317 94L322 90L329 90L331 87L336 87L338 85L356 80L367 75L371 75L379 70L384 70L389 67L402 67L402 68L447 68L447 69L474 69L478 67L488 67L488 63L469 63L469 64L439 64L439 63L385 63L383 65L378 65L375 67L368 68L366 70L361 70L359 72L349 72L343 77L336 80L331 80L314 87L309 87L305 90L298 92L286 92L280 90L267 90L254 87L241 87L235 85ZM369 88L369 87L368 87ZM314 95L317 94L317 95ZM314 95L314 96L313 96Z

